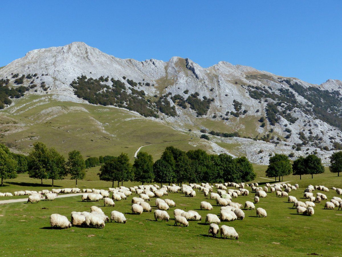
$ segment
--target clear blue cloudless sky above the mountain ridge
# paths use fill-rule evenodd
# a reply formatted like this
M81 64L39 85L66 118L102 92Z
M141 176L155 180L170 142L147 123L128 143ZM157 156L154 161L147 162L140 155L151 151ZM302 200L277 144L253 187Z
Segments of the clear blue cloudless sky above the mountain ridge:
M342 1L1 1L0 66L83 41L119 58L342 80Z

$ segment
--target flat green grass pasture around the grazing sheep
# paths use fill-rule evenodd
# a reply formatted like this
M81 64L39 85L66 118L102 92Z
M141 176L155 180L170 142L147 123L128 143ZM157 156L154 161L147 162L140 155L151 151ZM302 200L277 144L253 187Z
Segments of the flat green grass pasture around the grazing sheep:
M271 180L265 177L266 166L254 165L258 174L255 181L260 185ZM80 188L108 188L109 182L98 181L96 173L98 167L87 172L86 179L79 181ZM342 187L342 178L328 170L324 174L315 175L314 179L303 176L286 176L284 181L291 184L298 183L300 188L290 195L300 199L303 190L308 184ZM6 180L1 192L12 192L19 189L41 190L51 188L51 181L44 181L41 187L39 180L29 179L27 174L19 174L17 179ZM75 181L55 181L55 188L72 187ZM124 186L138 185L138 183L124 182ZM249 188L248 188L249 189ZM317 192L317 191L316 191ZM330 200L336 192L326 193ZM23 196L18 196L23 197ZM246 200L253 201L254 194L239 196L234 201L244 204ZM9 197L2 197L8 199ZM11 197L14 198L14 197ZM104 229L72 227L65 230L50 228L49 216L60 213L70 218L71 211L90 211L92 205L101 206L103 202L82 202L81 197L58 197L54 201L40 201L38 204L11 203L0 205L0 223L3 228L2 256L28 255L125 255L125 256L304 256L316 253L323 256L340 256L340 224L342 211L324 210L324 203L316 204L315 214L312 217L297 215L287 198L277 198L268 193L267 198L260 198L256 207L267 211L266 218L255 217L255 210L244 210L244 220L221 222L232 226L239 233L239 240L223 240L208 237L209 225L204 223L207 213L219 215L220 207L214 200L205 199L201 192L195 198L185 197L183 194L169 194L162 198L173 199L176 208L196 210L202 216L202 221L190 221L189 227L173 226L173 209L168 213L171 220L154 221L153 211L156 209L154 199L150 201L153 207L151 213L142 215L131 214L131 196L127 200L116 202L115 207L101 207L106 215L111 210L118 210L128 219L126 224L106 223ZM212 211L198 210L200 201L209 201ZM305 201L304 199L300 199ZM44 208L44 209L42 209ZM46 208L46 209L45 209ZM15 246L15 247L13 247Z

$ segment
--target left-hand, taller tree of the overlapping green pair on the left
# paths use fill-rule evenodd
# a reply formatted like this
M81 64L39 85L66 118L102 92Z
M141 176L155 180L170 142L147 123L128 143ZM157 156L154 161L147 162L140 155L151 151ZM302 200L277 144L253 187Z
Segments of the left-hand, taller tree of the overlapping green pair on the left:
M48 148L42 142L33 144L33 150L28 156L28 175L30 178L40 179L43 184L43 179L49 178L48 169Z

